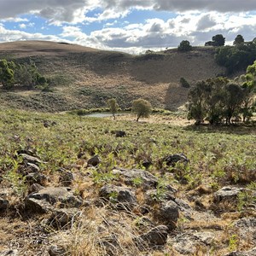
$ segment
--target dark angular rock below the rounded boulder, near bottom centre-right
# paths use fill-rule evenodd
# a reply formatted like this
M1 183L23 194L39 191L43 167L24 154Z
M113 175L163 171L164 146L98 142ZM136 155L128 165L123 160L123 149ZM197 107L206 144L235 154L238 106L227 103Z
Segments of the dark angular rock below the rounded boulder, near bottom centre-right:
M168 228L165 225L159 225L152 230L149 230L148 233L145 233L139 236L138 241L144 241L149 246L164 246L168 237Z

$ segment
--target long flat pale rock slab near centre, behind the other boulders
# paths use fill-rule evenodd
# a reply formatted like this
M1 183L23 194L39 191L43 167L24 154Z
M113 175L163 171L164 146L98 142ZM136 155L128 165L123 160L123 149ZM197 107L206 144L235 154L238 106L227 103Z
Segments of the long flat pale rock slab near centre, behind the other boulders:
M125 169L114 169L113 174L119 175L122 178L122 181L128 185L135 185L136 181L139 183L139 186L143 186L144 189L156 188L158 179L150 172L143 170L125 170Z

